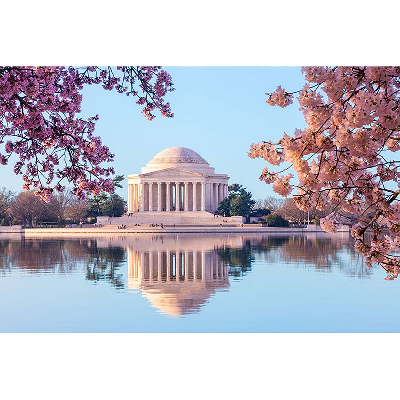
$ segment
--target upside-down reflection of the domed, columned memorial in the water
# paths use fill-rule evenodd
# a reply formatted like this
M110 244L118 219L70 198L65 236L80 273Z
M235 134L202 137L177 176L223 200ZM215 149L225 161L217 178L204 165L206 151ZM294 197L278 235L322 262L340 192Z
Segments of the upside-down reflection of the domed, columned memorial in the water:
M229 285L229 267L218 252L128 248L128 288L140 289L151 305L168 315L198 310Z

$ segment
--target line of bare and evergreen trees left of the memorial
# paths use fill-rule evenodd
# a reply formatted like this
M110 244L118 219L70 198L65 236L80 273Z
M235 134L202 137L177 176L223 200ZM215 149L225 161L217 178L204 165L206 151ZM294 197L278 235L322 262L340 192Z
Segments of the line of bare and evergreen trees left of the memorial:
M121 188L123 175L112 179L114 189ZM42 201L33 190L15 193L0 187L0 225L40 226L43 224L92 223L97 216L119 217L126 212L126 201L114 193L101 192L80 199L70 189L54 193Z

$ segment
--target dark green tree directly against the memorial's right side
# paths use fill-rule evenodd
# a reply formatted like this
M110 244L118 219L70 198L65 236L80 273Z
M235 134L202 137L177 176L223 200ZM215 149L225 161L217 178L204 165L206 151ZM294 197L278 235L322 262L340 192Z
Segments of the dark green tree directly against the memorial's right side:
M220 203L218 213L226 216L241 215L248 220L254 204L251 192L241 184L233 183L228 187L228 196Z

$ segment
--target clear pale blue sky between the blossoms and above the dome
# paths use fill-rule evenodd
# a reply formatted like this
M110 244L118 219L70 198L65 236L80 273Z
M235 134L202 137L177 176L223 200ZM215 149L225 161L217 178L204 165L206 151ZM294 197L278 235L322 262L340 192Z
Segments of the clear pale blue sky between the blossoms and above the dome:
M159 151L174 146L188 147L205 158L217 173L230 176L229 183L240 183L253 198L273 195L272 187L259 181L266 165L251 159L251 143L277 140L291 134L305 122L297 101L285 109L265 103L265 92L278 85L296 91L304 84L297 67L165 67L175 91L167 99L175 117L157 113L151 122L132 98L87 86L83 90L82 116L99 114L96 135L115 154L118 175L139 173L140 168ZM15 191L22 180L12 171L13 164L0 166L0 186ZM118 193L127 198L126 181Z

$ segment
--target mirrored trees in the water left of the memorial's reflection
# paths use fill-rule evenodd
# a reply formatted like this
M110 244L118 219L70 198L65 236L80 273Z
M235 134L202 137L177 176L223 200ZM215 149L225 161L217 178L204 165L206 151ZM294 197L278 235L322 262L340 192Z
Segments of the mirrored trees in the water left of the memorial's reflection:
M126 260L121 247L97 248L95 239L0 240L0 274L19 268L29 273L68 274L85 268L86 279L104 280L123 288L121 265Z

